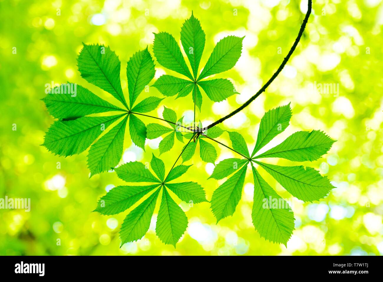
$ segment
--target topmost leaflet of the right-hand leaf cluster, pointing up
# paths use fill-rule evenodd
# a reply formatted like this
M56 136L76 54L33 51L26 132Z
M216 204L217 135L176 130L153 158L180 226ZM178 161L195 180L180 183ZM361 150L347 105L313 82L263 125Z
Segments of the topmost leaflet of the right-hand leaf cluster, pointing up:
M267 111L261 119L257 143L255 143L251 156L253 157L263 146L269 143L279 133L283 132L288 126L290 118L290 103Z

